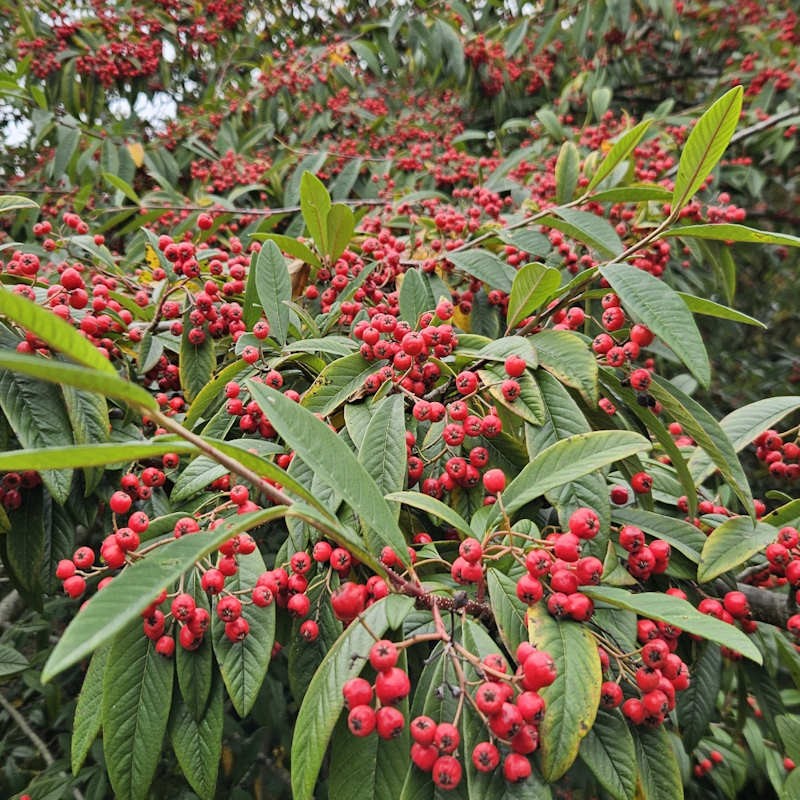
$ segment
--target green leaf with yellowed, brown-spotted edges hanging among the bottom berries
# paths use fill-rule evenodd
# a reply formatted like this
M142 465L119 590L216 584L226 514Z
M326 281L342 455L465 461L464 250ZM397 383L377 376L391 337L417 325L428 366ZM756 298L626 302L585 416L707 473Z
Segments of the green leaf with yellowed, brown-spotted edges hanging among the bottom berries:
M570 768L594 724L603 682L600 656L585 625L557 620L541 603L528 609L528 636L558 670L555 681L539 690L547 704L539 726L542 775L552 782Z

